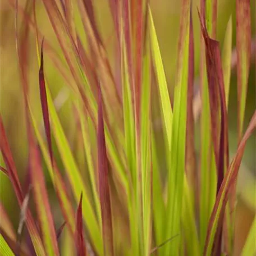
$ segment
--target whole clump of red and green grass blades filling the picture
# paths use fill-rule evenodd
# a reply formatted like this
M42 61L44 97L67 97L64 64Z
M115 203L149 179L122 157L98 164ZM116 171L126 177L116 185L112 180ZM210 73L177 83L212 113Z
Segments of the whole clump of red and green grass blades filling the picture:
M12 0L10 0L12 2ZM59 54L49 38L42 37L36 22L36 3L31 20L26 10L14 4L17 58L20 69L28 136L28 177L36 206L28 203L13 161L10 143L0 123L0 148L4 167L21 208L20 225L28 228L36 255L231 255L234 248L236 180L246 141L256 126L256 112L243 135L251 44L250 24L242 19L249 1L238 2L237 75L239 100L239 145L234 159L228 158L227 107L230 92L232 23L228 21L222 57L216 41L217 1L201 1L200 42L200 160L195 157L193 117L194 31L192 2L181 1L177 72L174 93L167 84L149 1L109 0L115 28L115 53L96 22L93 1L43 0L47 19L58 42ZM31 25L32 24L32 25ZM243 37L243 30L246 36ZM34 74L40 92L38 118L29 97L26 59L32 31L39 74ZM40 41L43 41L39 56ZM34 50L33 50L34 51ZM45 57L45 61L44 61ZM113 67L114 60L114 67ZM51 62L51 63L50 63ZM53 80L64 81L68 92L65 115L74 126L74 143L63 125ZM170 95L173 96L171 101ZM39 95L38 95L39 97ZM163 143L156 130L156 111ZM42 129L44 127L44 129ZM242 136L243 135L243 136ZM158 137L159 136L159 137ZM189 137L190 136L190 137ZM192 137L191 137L192 136ZM190 140L192 138L192 140ZM163 147L159 153L159 147ZM193 159L188 157L191 153ZM159 157L159 154L164 157ZM190 155L189 155L190 156ZM196 166L198 162L198 167ZM193 164L193 166L191 166ZM46 173L57 198L51 204ZM25 194L27 193L27 194ZM231 196L230 196L231 195ZM25 205L25 206L24 206ZM31 208L31 209L30 209ZM64 220L59 229L54 212ZM3 214L2 214L3 213ZM32 255L31 246L17 232L1 203L4 225L0 249L4 255ZM40 231L36 227L39 223ZM56 223L56 224L55 224ZM59 239L62 234L63 237ZM253 255L255 219L243 255ZM22 228L21 228L22 229ZM22 243L21 243L22 240Z

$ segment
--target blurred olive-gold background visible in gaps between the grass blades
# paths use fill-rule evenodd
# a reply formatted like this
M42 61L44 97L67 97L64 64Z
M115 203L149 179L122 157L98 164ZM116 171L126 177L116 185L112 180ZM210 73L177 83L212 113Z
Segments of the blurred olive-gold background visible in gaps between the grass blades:
M7 131L7 136L11 144L11 150L15 158L15 163L19 171L19 176L23 184L26 184L26 172L28 161L28 145L25 130L24 118L24 101L22 98L22 90L20 83L19 66L17 63L17 54L15 46L15 1L0 0L0 16L1 16L1 115L4 121L4 126ZM31 1L32 2L32 1ZM251 0L252 11L252 62L250 67L250 76L248 82L248 98L246 102L245 125L249 123L250 118L255 110L255 0ZM94 0L95 13L97 24L103 36L103 42L107 48L109 57L115 52L115 40L113 24L108 8L108 1ZM19 0L19 6L25 7L25 1ZM154 22L156 25L159 46L162 53L164 69L170 92L175 85L176 74L176 58L177 58L177 40L179 33L180 19L180 1L179 0L151 0ZM194 44L195 44L195 77L198 77L199 72L199 20L196 7L199 7L199 1L193 1L193 22L194 22ZM31 5L32 7L32 5ZM232 61L233 68L231 72L230 85L230 101L228 106L228 122L229 122L229 143L230 157L234 156L237 147L237 106L236 106L236 19L235 19L235 0L218 0L218 18L217 18L217 40L220 41L221 47L225 36L228 20L232 19ZM48 20L47 13L44 10L42 1L36 0L36 15L40 32L51 42L53 48L61 54L56 36L54 35L52 26ZM20 13L18 14L18 22L24 22ZM21 25L19 25L21 27ZM35 34L30 31L29 34L30 52L29 52L29 90L30 99L33 108L35 109L36 117L40 119L40 98L38 86L38 65L36 60L35 49ZM72 121L72 106L68 100L67 92L65 91L65 82L59 77L54 76L54 67L48 61L48 56L45 54L45 73L47 74L52 94L57 97L60 108L60 118L62 125L65 127L66 135L70 141L71 147L77 150L77 141L75 140L75 122ZM111 58L112 64L115 59ZM195 90L198 84L195 79ZM172 93L171 93L172 94ZM199 124L196 122L196 150L199 150ZM255 168L255 132L246 145L243 163L240 168L239 181L237 185L237 217L236 217L236 253L239 255L241 246L244 244L245 237L248 233L248 228L252 223L256 211L256 168ZM1 166L4 163L1 158ZM47 176L47 173L45 173ZM0 193L1 202L7 209L15 228L19 222L19 208L13 193L10 181L6 176L0 173ZM49 179L48 179L49 180ZM51 196L52 205L56 200L53 190L49 182L49 195ZM54 207L53 207L54 209ZM54 212L58 216L58 210Z

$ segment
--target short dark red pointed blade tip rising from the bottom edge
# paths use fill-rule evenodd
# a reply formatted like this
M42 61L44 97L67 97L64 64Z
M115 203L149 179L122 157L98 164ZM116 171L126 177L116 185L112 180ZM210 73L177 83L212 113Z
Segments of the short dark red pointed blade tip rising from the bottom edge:
M83 214L82 214L82 200L83 194L81 194L79 205L76 213L76 249L78 256L86 256L86 246L83 234Z

